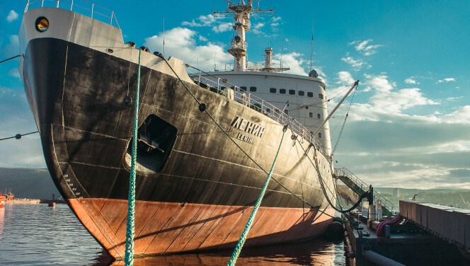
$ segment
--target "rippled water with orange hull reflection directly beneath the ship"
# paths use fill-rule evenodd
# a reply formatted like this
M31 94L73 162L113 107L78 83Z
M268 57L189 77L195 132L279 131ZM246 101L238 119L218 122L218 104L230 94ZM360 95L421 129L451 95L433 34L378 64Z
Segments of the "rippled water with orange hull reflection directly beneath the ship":
M134 265L227 265L232 250L217 253L159 255L139 258ZM125 265L115 261L110 265ZM243 249L237 265L346 265L343 243L323 238L311 241Z

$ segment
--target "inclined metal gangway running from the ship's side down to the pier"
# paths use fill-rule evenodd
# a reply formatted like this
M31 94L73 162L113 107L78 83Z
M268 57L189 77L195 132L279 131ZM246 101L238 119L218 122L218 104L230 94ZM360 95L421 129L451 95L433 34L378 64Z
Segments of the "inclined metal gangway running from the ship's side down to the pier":
M351 173L351 171L346 168L335 168L335 178L341 180L357 196L360 196L363 193L367 192L367 190L369 190L368 184L364 183L362 180L360 180L360 178L357 178L355 174ZM343 199L345 199L347 202L350 202L350 204L353 204L354 200L352 200L345 193L340 193L340 196L343 197ZM386 216L391 216L391 210L393 209L394 204L389 202L389 200L384 198L376 191L374 191L374 197L376 200L382 201L382 214ZM360 207L358 208L360 209Z

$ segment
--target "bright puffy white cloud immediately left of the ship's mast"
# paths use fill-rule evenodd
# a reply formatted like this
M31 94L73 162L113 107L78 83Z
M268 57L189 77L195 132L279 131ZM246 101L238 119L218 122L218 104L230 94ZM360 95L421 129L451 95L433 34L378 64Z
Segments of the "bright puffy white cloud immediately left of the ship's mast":
M222 67L233 60L233 57L225 52L224 48L214 45L212 42L207 42L205 45L196 45L196 37L197 33L188 28L178 27L166 31L165 56L176 57L186 64L193 67L199 66L200 69L206 71L213 70L214 63L217 67ZM163 51L163 35L160 33L145 38L144 46L149 47L151 51Z

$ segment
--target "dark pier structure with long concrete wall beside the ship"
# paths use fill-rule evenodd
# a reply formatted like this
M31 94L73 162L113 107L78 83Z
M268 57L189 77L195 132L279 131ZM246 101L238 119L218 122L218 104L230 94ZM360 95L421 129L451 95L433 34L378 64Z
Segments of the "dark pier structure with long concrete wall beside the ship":
M470 265L470 210L400 201L399 216L380 230L380 221L351 214L343 224L350 265Z

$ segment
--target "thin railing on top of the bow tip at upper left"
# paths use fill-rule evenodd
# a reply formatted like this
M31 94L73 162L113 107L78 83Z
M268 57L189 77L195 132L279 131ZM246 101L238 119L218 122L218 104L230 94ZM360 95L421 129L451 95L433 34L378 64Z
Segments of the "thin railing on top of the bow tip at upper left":
M39 8L39 7L55 7L55 8L62 8L67 9L69 11L74 11L84 16L89 16L90 18L95 18L98 21L102 21L104 23L109 23L113 25L113 21L119 27L119 23L117 23L117 18L114 14L114 11L109 10L108 8L104 8L102 6L98 6L88 1L84 0L36 0L36 1L29 1L25 7L25 13L29 9Z

